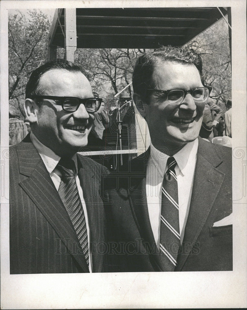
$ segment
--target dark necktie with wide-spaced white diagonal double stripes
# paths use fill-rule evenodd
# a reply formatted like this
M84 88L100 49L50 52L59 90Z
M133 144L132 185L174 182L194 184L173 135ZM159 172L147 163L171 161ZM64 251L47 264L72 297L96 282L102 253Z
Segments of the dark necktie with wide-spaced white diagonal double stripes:
M174 271L180 247L178 184L174 157L167 160L167 171L162 184L160 255L164 271Z

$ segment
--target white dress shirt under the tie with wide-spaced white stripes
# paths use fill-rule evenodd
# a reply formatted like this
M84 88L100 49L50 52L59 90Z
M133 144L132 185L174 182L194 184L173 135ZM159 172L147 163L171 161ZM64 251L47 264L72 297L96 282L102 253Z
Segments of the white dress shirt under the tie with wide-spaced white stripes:
M188 218L197 148L198 139L187 143L179 152L173 155L177 162L175 173L178 181L180 243L183 242L185 224ZM167 170L168 157L168 155L158 151L152 143L150 144L150 157L146 173L146 196L150 223L158 249L160 243L162 183Z

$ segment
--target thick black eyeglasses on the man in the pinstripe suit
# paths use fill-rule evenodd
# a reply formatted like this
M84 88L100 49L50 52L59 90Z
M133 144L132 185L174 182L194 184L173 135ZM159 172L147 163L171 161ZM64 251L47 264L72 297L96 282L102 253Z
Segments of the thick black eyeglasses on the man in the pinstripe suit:
M80 99L77 97L59 97L59 96L42 96L42 95L34 95L34 98L40 99L51 99L56 100L56 104L61 105L63 110L66 112L75 112L80 104L84 104L87 112L94 113L97 112L102 103L102 98L86 98Z

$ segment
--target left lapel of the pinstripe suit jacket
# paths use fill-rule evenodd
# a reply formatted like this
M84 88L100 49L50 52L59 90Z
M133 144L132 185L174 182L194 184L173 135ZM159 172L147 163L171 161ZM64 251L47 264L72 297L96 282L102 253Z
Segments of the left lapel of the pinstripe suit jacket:
M89 272L84 255L75 250L75 244L79 242L76 232L36 148L32 143L23 142L19 144L17 153L20 173L27 176L19 185L59 235L81 268Z

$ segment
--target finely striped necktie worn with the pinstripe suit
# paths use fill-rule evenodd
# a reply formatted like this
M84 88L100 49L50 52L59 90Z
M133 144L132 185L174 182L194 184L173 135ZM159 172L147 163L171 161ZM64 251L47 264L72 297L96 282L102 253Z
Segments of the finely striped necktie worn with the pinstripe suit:
M75 178L75 163L70 158L61 158L58 170L62 173L58 193L76 231L86 262L89 266L88 235L85 214Z

